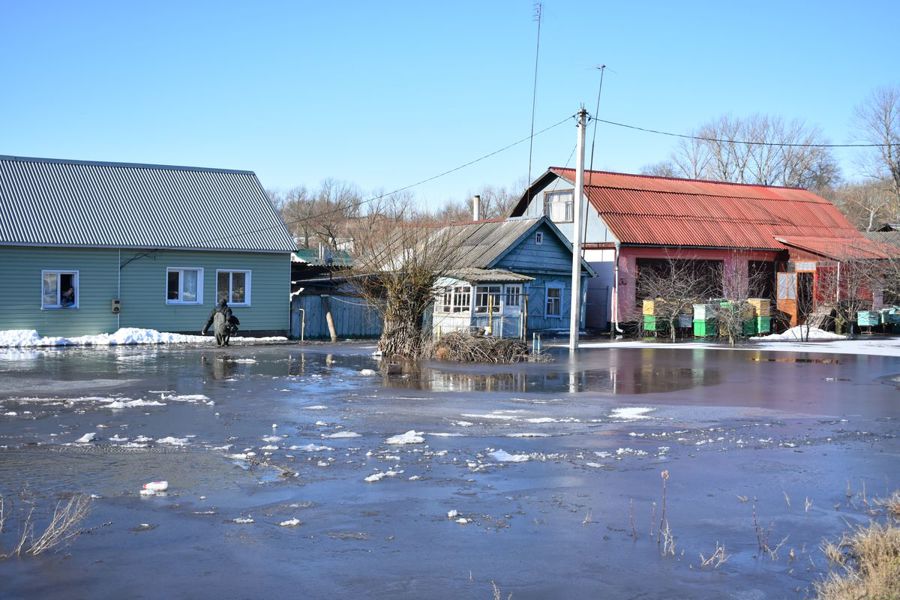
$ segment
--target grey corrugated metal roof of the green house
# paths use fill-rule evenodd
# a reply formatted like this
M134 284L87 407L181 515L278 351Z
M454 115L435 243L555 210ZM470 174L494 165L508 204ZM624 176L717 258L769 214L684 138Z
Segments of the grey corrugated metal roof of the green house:
M251 171L0 156L0 245L292 252Z

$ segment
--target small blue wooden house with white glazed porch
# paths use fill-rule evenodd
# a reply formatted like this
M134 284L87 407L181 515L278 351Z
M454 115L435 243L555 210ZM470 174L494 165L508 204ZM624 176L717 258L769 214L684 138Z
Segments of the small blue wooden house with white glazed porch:
M550 219L448 225L439 235L448 229L459 248L454 267L437 282L432 319L436 336L473 328L502 337L568 331L572 245ZM593 276L582 260L582 290L586 278Z

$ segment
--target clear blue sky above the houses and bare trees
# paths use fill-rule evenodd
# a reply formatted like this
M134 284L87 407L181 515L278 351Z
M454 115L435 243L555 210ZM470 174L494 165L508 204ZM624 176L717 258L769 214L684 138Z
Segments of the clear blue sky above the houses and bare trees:
M393 190L528 135L530 1L3 0L0 154L248 169ZM722 114L799 117L852 141L900 83L900 3L545 0L535 129L593 112L688 132ZM589 130L590 134L590 130ZM636 172L674 140L601 125L595 168ZM574 121L535 139L565 164ZM590 144L590 141L588 142ZM836 153L856 176L854 151ZM574 159L573 163L574 165ZM528 144L415 189L423 205L511 185Z

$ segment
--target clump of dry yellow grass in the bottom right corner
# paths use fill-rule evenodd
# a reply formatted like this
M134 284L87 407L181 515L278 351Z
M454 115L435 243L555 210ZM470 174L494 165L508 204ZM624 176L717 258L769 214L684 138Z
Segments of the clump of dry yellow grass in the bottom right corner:
M815 584L821 600L900 597L900 528L893 523L859 527L822 550L841 572Z

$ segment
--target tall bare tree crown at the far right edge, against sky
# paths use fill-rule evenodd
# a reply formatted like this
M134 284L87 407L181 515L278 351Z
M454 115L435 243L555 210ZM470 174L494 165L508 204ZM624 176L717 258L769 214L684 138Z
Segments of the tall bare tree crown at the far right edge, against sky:
M900 86L878 88L856 108L862 138L878 144L865 166L875 180L887 180L900 199Z

